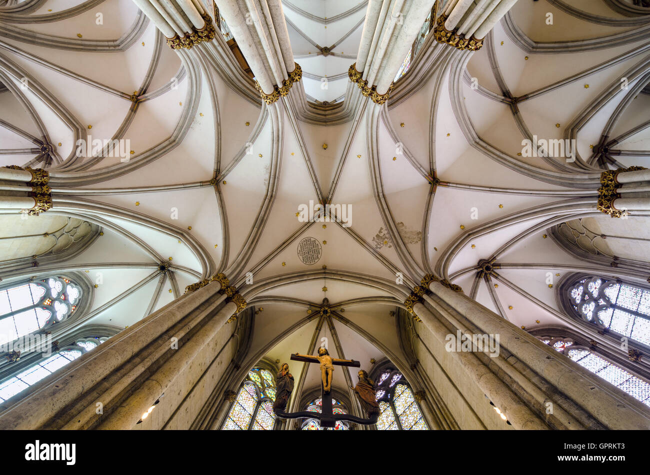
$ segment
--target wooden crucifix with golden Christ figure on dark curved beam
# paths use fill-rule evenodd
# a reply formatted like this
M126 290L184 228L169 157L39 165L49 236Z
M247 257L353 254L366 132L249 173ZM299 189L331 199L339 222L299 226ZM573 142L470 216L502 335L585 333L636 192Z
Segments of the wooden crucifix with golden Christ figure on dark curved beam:
M335 427L337 420L350 420L357 424L370 425L377 422L377 414L370 415L370 419L361 419L350 414L334 414L331 410L331 380L334 372L334 365L361 367L359 361L354 359L337 359L331 358L326 348L318 348L318 356L308 354L292 354L290 357L293 361L303 361L305 363L320 363L320 401L321 412L298 411L285 413L281 409L276 409L276 415L282 419L318 419L321 427Z

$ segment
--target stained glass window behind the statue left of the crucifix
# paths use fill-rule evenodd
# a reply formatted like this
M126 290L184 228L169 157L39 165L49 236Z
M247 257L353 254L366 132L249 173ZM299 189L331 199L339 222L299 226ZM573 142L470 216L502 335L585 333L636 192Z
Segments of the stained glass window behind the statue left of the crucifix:
M276 383L266 369L253 368L239 388L239 393L222 425L222 430L273 430L276 415L273 402Z

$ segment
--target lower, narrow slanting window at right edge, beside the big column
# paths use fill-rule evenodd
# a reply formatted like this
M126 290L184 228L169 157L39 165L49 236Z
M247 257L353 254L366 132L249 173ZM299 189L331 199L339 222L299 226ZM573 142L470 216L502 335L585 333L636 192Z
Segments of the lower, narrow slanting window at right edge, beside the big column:
M634 396L643 404L650 406L650 384L625 371L623 368L598 356L588 347L577 345L573 339L560 337L538 337L543 343L550 345L556 351L573 359L578 365L585 367L596 376L612 383L629 395Z

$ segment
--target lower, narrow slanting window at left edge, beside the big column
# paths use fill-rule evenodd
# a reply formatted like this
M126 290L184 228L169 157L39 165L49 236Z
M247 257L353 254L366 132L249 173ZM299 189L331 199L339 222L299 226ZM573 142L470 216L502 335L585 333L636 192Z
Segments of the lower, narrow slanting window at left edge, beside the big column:
M66 366L70 361L79 358L79 356L104 343L107 339L109 338L92 337L79 339L74 345L69 345L51 354L48 358L19 372L15 376L8 378L0 383L0 402L5 402L7 399L16 396L21 391L57 371L57 369Z

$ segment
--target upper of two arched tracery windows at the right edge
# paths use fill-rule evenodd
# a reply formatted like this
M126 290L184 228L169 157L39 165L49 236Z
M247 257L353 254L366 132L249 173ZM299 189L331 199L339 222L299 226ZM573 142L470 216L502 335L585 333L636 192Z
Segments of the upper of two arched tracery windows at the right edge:
M571 286L568 295L580 319L650 345L649 289L590 276Z

